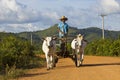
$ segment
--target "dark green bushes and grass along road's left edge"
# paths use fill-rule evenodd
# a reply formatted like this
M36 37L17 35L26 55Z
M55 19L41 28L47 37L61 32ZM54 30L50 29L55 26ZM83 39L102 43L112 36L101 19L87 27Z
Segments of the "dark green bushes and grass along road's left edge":
M41 65L42 58L35 55L35 47L29 41L14 35L5 36L0 41L0 74L16 78L24 74L22 69Z

